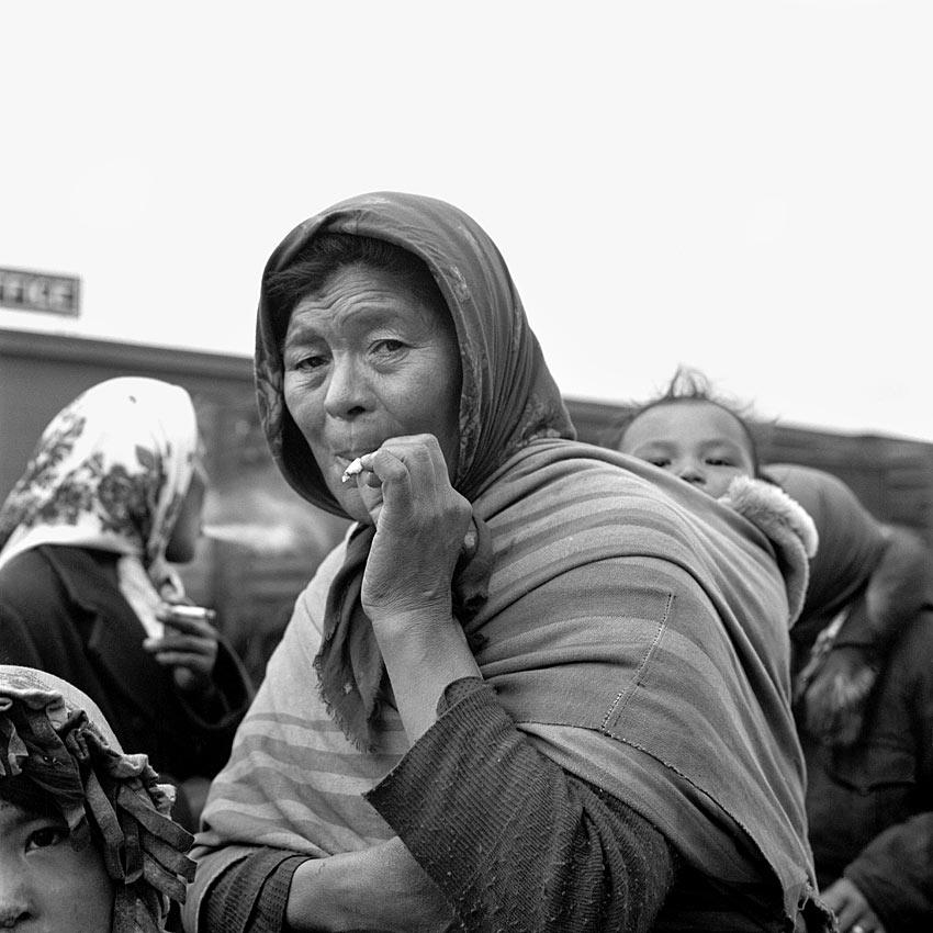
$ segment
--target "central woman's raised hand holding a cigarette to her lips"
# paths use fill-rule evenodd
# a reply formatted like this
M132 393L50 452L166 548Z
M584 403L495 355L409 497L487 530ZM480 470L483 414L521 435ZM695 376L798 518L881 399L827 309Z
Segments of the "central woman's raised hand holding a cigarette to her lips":
M450 583L473 509L451 485L434 435L395 437L360 458L356 480L376 532L362 584L374 623L405 614L451 615Z

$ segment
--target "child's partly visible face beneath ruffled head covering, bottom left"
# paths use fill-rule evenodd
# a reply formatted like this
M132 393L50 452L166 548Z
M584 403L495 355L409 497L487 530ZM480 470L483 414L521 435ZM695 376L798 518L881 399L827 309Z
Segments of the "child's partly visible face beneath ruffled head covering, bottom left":
M113 896L94 845L76 852L61 820L0 799L0 928L109 933Z

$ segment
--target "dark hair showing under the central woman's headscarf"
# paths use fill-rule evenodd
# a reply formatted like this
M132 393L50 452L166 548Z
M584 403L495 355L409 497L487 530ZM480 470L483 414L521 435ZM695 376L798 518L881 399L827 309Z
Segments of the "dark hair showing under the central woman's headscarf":
M370 236L323 233L306 243L284 269L271 272L266 279L265 291L279 346L285 339L294 306L302 299L319 293L340 269L356 265L392 276L428 307L449 313L434 276L413 252Z

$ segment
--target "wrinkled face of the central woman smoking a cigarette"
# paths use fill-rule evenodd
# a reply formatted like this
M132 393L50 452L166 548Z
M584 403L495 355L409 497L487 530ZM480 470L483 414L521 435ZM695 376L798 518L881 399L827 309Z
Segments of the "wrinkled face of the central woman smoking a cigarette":
M364 266L335 272L289 321L285 405L344 510L370 521L347 465L384 440L432 434L451 479L460 442L460 351L448 314Z

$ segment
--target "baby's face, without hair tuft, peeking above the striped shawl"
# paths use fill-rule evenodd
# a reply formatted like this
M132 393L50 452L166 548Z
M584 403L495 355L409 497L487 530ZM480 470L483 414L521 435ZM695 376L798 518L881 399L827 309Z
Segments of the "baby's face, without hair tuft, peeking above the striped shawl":
M679 476L713 498L724 495L735 476L755 473L742 424L712 402L685 400L649 408L626 429L619 450Z

